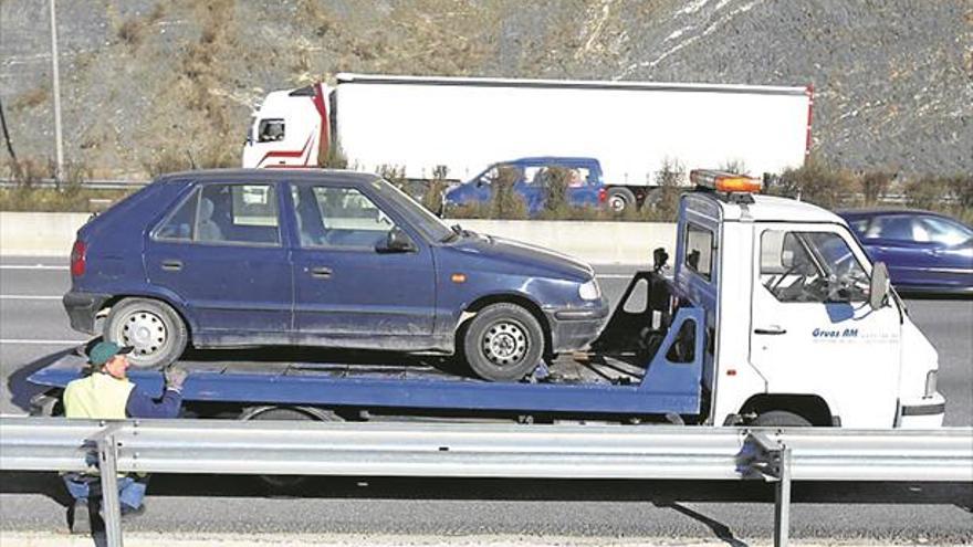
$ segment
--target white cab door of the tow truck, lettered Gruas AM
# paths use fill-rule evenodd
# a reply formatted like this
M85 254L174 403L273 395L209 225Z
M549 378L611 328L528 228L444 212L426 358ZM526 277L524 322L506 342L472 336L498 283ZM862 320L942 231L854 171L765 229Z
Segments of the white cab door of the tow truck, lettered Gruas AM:
M843 427L892 427L899 311L869 307L871 266L850 232L761 223L754 233L751 362L767 391L820 396Z

